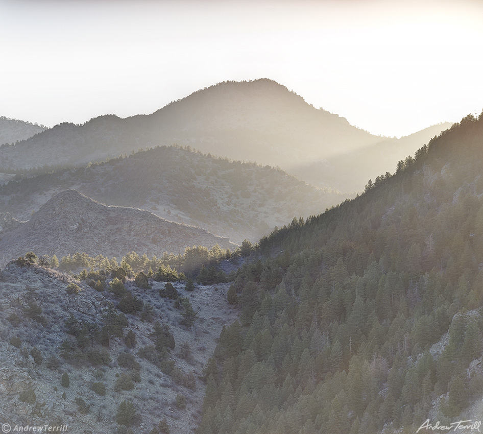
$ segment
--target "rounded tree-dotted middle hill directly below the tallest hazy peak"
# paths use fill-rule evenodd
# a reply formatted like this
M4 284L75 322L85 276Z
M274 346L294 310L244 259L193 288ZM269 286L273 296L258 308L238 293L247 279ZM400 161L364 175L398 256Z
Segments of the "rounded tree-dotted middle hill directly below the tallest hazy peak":
M159 147L0 187L0 212L28 220L58 192L73 188L108 205L146 209L240 244L255 242L294 216L319 213L344 196L271 167ZM25 253L25 252L23 252Z

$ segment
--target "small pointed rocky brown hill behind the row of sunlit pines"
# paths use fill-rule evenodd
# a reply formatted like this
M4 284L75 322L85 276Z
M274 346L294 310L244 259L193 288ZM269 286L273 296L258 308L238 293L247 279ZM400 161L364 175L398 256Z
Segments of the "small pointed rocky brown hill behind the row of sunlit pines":
M151 256L215 244L234 247L228 238L201 228L166 221L149 211L106 206L66 190L42 205L28 222L2 232L0 257L11 260L30 250L59 257L76 251L118 257L133 250Z

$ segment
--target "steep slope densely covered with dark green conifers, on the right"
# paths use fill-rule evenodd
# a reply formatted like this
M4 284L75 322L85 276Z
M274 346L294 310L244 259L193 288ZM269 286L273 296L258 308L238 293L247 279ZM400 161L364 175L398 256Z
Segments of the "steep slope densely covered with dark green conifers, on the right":
M360 197L263 237L230 288L240 321L205 368L198 432L415 432L478 417L482 167L483 114L469 115Z

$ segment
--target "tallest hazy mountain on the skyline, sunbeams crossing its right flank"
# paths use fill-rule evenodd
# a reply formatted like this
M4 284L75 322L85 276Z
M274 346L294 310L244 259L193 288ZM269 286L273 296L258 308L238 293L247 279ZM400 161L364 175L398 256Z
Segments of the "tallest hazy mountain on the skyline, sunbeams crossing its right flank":
M397 162L393 159L394 148L404 148L403 155L414 154L432 137L421 134L415 136L410 146L403 146L402 141L371 135L351 126L343 117L312 107L272 80L224 82L194 92L150 115L126 119L104 115L84 125L57 125L15 147L3 147L0 172L2 167L3 171L22 171L52 164L84 165L139 148L178 143L233 160L280 166L288 173L296 171L304 180L303 167L313 161L328 160L328 178L324 177L323 166L322 175L313 176L311 171L309 182L360 191L367 179L379 175L380 167L373 167L375 160L366 161L363 181L357 176L349 182L350 168L346 170L331 159L346 158L349 153L384 142L387 146L378 148L377 153L389 160L388 165L384 164L385 171ZM52 155L56 155L55 162Z

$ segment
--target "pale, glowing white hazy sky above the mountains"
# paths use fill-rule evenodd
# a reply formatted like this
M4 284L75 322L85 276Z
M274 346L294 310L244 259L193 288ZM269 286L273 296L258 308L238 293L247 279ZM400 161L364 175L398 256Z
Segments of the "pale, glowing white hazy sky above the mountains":
M483 1L0 0L0 115L151 113L271 78L375 134L483 109Z

